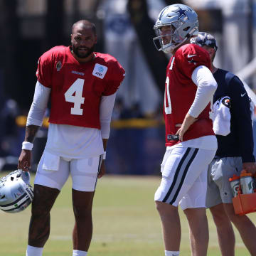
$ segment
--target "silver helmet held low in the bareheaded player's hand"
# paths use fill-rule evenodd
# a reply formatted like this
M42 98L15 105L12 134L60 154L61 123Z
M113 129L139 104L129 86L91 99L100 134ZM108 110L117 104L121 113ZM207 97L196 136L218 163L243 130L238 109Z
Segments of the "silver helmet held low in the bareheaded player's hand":
M0 209L6 213L25 210L33 200L28 171L16 170L0 179Z

